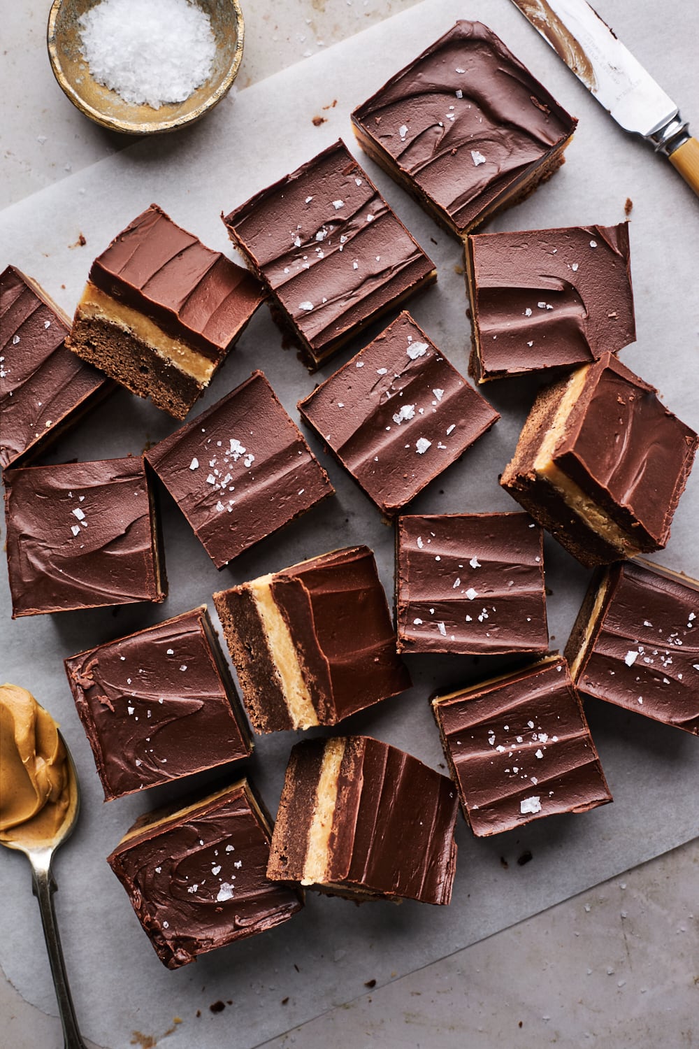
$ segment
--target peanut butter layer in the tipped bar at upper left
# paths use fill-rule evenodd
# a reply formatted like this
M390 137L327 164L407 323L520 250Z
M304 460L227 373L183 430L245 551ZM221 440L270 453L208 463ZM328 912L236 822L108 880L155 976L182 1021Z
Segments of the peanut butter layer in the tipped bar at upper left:
M198 354L187 343L166 335L150 318L123 302L117 302L90 281L85 285L78 304L78 318L83 320L96 318L129 331L150 346L158 357L179 368L184 374L191 376L202 386L209 383L216 368L216 363L203 354Z

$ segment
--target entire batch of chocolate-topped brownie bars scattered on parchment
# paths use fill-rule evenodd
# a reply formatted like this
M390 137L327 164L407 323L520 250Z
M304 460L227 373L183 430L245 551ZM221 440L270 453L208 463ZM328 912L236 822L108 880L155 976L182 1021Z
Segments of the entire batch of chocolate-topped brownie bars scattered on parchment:
M611 801L585 697L699 734L699 582L637 557L667 544L699 438L616 357L635 339L628 223L475 232L555 172L576 121L460 21L352 122L462 245L477 386L552 377L503 464L521 510L410 510L467 472L500 414L403 308L436 267L342 140L223 218L246 267L151 205L93 261L72 325L14 266L0 276L13 618L163 602L156 479L243 577L213 595L242 703L204 604L66 658L105 800L228 776L254 733L315 730L291 749L276 825L237 767L111 852L169 968L286 921L307 887L447 904L459 802L487 836ZM394 529L395 625L366 544L292 565L259 545L334 494L262 371L187 419L263 303L310 371L349 348L298 410ZM117 384L182 425L143 454L28 465ZM564 656L544 530L595 568ZM399 716L414 655L507 657L431 698L449 776L343 729L390 698Z

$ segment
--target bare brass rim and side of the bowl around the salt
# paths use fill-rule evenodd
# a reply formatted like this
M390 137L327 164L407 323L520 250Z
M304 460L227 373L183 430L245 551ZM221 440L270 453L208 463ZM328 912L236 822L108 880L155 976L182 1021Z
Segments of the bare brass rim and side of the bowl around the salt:
M125 102L92 77L80 51L79 18L99 0L53 0L48 16L48 55L53 76L81 112L110 131L154 134L193 124L213 109L231 88L243 57L243 13L239 0L197 0L210 16L216 58L209 79L184 102L159 109Z

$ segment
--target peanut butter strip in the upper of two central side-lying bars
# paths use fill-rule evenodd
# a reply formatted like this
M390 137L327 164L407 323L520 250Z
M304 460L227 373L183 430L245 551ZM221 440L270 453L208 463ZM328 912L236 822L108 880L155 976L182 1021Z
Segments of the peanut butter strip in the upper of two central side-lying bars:
M249 583L249 590L262 621L269 654L282 682L284 700L293 727L310 728L312 725L320 725L318 713L306 686L291 633L271 595L271 574L261 576Z

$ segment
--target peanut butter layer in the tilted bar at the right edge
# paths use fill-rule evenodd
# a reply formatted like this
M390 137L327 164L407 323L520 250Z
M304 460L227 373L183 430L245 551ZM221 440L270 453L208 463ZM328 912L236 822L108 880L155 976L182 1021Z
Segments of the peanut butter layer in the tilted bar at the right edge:
M571 480L563 470L553 462L555 448L565 433L568 416L572 411L577 399L585 387L588 368L586 365L568 381L565 393L561 398L556 408L553 422L546 431L544 438L537 452L533 469L539 477L547 480L548 484L559 492L566 502L566 506L596 535L602 536L607 542L619 551L621 556L633 557L639 553L640 548L634 545L626 532L622 531L613 520L611 520L604 510L585 494L583 489Z

